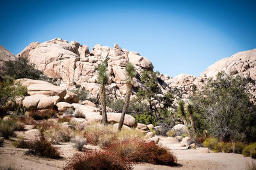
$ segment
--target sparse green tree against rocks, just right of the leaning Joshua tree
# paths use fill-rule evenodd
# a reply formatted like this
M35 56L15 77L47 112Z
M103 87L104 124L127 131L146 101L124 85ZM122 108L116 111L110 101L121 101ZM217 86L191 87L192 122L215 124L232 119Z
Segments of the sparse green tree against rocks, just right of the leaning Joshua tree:
M170 92L163 94L160 90L157 81L157 73L153 71L141 71L140 81L143 87L136 94L138 101L146 101L149 107L150 116L154 118L161 118L163 113L167 113L168 108L172 106L173 95ZM158 103L158 104L157 104ZM164 115L165 117L166 115Z

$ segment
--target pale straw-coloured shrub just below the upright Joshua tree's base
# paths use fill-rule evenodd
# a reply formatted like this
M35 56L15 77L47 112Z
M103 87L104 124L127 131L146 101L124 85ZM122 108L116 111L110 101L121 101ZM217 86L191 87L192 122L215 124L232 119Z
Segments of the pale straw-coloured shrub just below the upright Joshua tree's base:
M86 127L84 132L84 137L87 139L88 143L93 145L99 144L100 136L108 134L109 136L114 136L115 132L111 125L104 126L100 124L92 124Z

